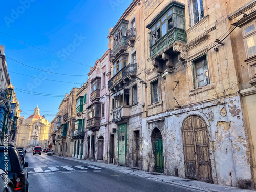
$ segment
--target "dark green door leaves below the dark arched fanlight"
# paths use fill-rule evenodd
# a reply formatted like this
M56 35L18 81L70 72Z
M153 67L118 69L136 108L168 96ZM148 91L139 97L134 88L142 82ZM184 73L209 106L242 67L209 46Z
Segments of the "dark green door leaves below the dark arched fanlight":
M163 173L163 140L155 140L155 157L156 157L156 172Z

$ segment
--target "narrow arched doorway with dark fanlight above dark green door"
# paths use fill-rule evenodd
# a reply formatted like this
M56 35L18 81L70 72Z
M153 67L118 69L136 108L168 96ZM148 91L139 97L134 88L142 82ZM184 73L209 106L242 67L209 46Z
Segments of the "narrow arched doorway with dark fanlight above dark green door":
M156 172L163 173L164 158L163 158L163 137L159 129L155 128L152 131L152 143L155 154L155 168Z

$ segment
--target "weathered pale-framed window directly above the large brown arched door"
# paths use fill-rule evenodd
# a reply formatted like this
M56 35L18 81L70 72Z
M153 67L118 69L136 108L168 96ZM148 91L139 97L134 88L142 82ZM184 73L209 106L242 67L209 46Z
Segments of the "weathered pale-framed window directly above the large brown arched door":
M194 68L194 88L199 88L210 84L209 70L206 55L193 61Z

